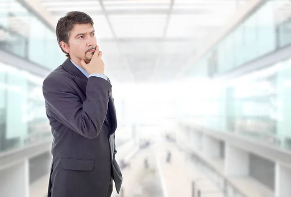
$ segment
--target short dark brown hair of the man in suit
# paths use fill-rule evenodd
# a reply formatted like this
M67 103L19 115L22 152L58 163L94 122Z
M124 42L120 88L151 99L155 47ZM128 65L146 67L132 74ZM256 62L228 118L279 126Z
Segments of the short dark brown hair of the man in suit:
M80 11L66 13L64 17L59 19L56 27L56 36L60 47L62 41L69 45L70 33L76 24L91 24L93 26L94 22L88 14ZM69 54L63 49L62 51L65 53L65 56L69 57Z

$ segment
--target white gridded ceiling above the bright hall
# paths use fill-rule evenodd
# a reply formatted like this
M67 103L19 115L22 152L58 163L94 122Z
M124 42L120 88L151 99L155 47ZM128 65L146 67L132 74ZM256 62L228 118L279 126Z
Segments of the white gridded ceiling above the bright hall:
M57 18L94 20L106 71L119 82L173 80L246 0L40 0Z

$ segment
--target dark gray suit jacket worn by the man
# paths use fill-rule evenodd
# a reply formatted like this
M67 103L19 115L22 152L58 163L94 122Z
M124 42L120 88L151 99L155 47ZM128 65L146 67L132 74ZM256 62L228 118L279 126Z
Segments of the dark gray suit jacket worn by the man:
M49 197L106 197L111 177L119 193L111 87L105 79L87 79L69 58L44 80L53 135Z

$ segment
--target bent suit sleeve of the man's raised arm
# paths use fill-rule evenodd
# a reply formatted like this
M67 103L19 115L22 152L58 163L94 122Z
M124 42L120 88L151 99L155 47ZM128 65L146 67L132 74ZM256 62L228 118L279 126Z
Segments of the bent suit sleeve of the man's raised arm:
M86 100L82 103L73 88L61 79L48 77L43 83L47 112L66 127L86 138L97 138L104 123L112 85L98 77L90 77Z

